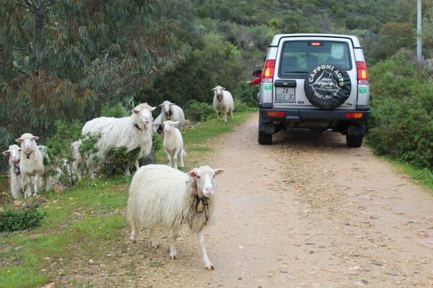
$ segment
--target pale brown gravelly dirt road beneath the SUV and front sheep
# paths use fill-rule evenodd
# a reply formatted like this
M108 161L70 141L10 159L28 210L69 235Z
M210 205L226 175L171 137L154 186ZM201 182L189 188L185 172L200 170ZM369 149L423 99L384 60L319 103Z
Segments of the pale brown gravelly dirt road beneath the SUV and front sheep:
M125 283L153 287L433 286L433 197L376 158L348 148L339 134L280 132L259 146L256 116L211 146L218 176L218 220L205 230L207 271L196 237L183 230L178 259L170 233L152 250L162 267L135 263ZM141 248L140 248L141 247ZM131 251L133 252L133 251ZM146 258L143 258L143 263Z

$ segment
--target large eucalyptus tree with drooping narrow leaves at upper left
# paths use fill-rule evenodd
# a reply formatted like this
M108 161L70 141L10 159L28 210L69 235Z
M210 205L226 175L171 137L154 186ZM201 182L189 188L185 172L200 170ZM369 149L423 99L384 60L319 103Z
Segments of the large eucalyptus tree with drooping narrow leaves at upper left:
M163 0L2 0L0 141L132 104L188 53ZM43 136L43 135L42 135Z

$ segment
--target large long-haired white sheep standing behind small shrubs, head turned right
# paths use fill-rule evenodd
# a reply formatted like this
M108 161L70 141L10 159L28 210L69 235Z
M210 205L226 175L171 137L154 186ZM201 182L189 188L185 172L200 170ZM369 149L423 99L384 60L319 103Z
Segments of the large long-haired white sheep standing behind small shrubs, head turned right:
M138 159L148 156L152 150L152 111L155 108L149 106L148 103L141 103L132 110L129 117L95 118L86 122L81 132L82 134L101 132L102 137L97 144L99 148L97 156L100 161L106 161L108 156L119 147L125 146L127 152L140 147L140 152L134 163L135 168L138 170ZM94 179L96 165L92 163L92 159L86 161L90 163L88 164L89 173L90 177ZM77 163L76 167L80 165L80 163ZM125 169L125 174L127 176L131 175L129 164Z

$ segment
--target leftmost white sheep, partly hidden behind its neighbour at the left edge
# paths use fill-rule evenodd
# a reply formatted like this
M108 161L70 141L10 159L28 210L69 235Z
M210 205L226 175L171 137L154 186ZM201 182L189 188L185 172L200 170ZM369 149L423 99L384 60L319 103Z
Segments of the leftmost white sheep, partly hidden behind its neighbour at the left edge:
M9 155L9 175L11 180L11 194L14 198L21 198L21 190L24 189L24 179L19 170L21 148L18 145L9 145L9 149L3 152Z

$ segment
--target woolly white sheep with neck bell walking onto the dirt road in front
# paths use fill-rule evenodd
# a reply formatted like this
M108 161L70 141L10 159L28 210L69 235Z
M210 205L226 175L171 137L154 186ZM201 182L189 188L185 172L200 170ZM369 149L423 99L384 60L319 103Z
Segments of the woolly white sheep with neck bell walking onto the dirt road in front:
M194 168L188 173L166 165L141 167L132 177L129 188L130 240L135 243L136 225L141 224L149 229L152 246L158 248L155 228L172 229L170 257L175 259L179 228L183 223L188 224L190 231L198 235L206 269L213 270L204 245L203 228L212 219L215 208L213 178L225 171L209 166Z

